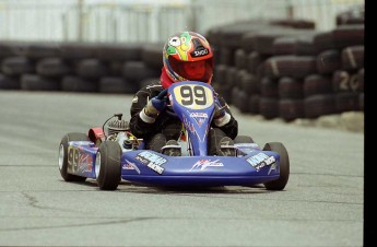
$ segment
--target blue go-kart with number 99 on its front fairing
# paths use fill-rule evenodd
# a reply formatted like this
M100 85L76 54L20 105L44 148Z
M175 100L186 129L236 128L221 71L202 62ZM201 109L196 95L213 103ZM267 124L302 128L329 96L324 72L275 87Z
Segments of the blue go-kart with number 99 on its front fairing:
M166 91L170 115L182 122L181 156L145 149L129 122L116 114L86 133L67 133L59 148L59 170L66 181L95 179L102 190L115 190L121 179L146 186L254 186L283 190L290 176L290 160L281 142L261 149L248 136L238 136L234 156L209 155L208 133L214 114L215 94L198 81L174 83Z

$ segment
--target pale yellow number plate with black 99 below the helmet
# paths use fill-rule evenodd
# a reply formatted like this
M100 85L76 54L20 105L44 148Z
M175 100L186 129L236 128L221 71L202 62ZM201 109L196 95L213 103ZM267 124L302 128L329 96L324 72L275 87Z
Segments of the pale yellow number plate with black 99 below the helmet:
M213 104L212 90L202 85L179 85L174 89L176 101L191 109L205 109Z

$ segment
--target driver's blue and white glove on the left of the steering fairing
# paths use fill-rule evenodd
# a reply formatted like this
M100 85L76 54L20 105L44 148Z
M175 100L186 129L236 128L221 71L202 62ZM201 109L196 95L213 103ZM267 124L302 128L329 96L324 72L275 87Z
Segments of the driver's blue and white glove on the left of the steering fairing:
M154 122L156 117L163 111L167 105L167 90L163 90L157 96L148 101L143 110L140 111L140 118L145 122Z

